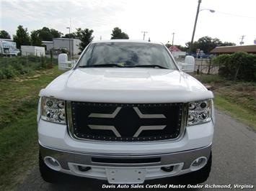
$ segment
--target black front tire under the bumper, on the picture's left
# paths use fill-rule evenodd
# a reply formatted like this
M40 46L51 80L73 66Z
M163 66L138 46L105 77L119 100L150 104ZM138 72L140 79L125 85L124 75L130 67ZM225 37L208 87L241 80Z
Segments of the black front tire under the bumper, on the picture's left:
M62 173L47 167L47 165L42 159L40 152L39 152L39 169L40 169L41 177L43 178L43 180L45 180L45 182L56 183L61 180Z

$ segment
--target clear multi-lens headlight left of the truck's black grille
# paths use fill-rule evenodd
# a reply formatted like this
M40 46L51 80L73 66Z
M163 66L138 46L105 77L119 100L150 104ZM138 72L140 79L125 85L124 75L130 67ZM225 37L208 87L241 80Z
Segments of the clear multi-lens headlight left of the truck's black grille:
M41 118L58 124L66 124L65 101L42 97Z

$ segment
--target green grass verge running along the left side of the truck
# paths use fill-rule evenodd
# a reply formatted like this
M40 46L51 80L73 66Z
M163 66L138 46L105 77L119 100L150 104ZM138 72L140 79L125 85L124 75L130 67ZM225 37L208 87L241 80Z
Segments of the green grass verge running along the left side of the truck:
M37 163L37 100L56 67L0 80L0 190L12 190Z

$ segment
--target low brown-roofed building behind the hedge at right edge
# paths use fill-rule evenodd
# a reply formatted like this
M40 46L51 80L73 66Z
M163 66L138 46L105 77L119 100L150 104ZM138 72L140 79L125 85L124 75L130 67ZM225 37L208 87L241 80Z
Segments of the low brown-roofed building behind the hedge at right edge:
M213 50L211 50L210 53L220 55L220 54L231 54L239 51L256 54L256 45L215 47Z

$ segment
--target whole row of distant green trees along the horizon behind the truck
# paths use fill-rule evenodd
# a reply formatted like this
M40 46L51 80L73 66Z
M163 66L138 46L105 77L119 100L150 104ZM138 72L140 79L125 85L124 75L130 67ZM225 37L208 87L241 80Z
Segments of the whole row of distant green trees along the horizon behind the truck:
M17 27L16 34L13 35L14 42L17 44L17 48L21 45L32 45L32 46L42 46L42 41L53 41L53 38L72 38L80 39L81 43L79 49L84 50L87 45L94 39L92 29L76 29L76 32L71 32L70 34L63 34L56 29L49 29L48 27L43 27L42 29L33 30L32 32L27 32L27 28L19 25ZM8 32L1 30L0 38L11 39ZM120 28L115 27L112 29L111 39L129 39L128 34L123 32ZM221 46L234 46L233 42L221 42L218 38L211 37L201 37L198 41L193 42L192 52L196 52L197 49L203 50L204 53L208 54L213 48ZM167 44L167 47L171 46ZM180 50L188 52L190 49L190 42L185 43L185 46L176 45Z

